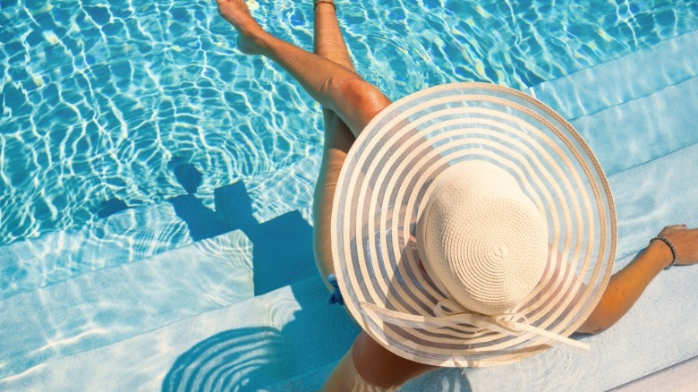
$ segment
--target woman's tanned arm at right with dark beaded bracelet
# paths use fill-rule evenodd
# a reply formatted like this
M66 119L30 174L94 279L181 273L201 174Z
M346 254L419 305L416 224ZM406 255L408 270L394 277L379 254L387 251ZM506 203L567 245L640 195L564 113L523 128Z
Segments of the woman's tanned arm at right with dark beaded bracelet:
M676 265L698 262L698 229L689 230L684 225L668 226L660 235L674 244L677 251ZM600 302L577 332L596 334L615 324L671 260L673 255L668 245L662 241L652 241L626 268L610 278Z

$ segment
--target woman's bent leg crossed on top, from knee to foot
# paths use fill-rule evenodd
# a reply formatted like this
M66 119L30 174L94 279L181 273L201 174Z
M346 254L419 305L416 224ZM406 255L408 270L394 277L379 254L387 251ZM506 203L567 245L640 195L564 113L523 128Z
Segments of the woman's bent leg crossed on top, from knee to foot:
M237 43L243 53L265 55L281 65L320 105L339 115L354 135L390 104L379 89L351 69L263 30L244 0L217 0L217 4L218 13L240 33Z

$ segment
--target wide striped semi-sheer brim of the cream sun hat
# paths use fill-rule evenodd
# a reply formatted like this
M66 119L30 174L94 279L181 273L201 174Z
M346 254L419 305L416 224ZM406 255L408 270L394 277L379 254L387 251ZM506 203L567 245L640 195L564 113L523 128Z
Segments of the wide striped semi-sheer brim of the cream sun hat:
M432 317L447 298L420 267L415 227L433 180L466 160L513 175L549 226L549 268L515 309L531 325L571 335L609 281L615 207L598 160L572 125L515 89L473 82L421 90L380 112L354 142L336 185L331 225L347 309L370 337L415 362L491 366L549 347L530 334L467 324L397 326L362 306Z

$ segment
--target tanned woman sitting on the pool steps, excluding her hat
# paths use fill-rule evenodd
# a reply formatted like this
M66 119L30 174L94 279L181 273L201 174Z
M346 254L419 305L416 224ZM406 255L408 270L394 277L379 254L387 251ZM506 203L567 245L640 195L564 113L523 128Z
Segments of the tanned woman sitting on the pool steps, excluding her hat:
M340 170L353 142L391 102L354 72L336 21L333 1L316 1L315 54L273 37L254 21L243 0L217 0L218 12L238 31L238 47L265 55L289 72L323 107L325 146L314 197L314 250L320 274L334 273L330 239L333 199ZM698 262L698 229L665 227L626 268L610 277L589 317L577 332L599 333L630 309L662 268ZM328 285L328 289L332 289ZM343 287L344 289L344 287ZM404 359L362 330L326 384L327 390L396 388L437 367Z

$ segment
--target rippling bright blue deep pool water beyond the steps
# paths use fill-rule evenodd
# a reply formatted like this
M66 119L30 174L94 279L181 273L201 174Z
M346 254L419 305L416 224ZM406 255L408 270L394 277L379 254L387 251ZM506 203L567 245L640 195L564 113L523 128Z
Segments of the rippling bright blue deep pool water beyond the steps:
M447 81L523 89L694 30L691 1L339 2L357 69L390 98ZM311 6L251 2L311 48ZM213 1L0 2L0 244L265 175L319 150L319 107L245 57Z

